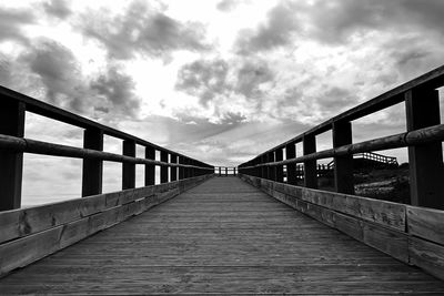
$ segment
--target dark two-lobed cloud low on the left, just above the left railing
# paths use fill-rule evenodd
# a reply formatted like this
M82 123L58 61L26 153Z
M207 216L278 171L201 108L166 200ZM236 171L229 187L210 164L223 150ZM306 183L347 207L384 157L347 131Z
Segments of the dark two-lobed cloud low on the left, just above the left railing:
M52 40L36 42L20 62L40 78L44 100L51 104L88 115L100 112L133 116L140 108L133 94L134 82L118 67L110 65L87 82L71 50Z

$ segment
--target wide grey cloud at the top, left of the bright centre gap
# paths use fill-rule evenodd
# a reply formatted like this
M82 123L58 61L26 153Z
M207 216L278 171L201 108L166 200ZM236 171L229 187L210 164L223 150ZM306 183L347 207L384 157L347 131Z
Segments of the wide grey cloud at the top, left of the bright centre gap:
M202 24L179 22L142 2L133 2L123 16L104 16L104 11L85 16L83 32L103 43L110 58L125 60L135 53L163 58L175 50L210 49Z

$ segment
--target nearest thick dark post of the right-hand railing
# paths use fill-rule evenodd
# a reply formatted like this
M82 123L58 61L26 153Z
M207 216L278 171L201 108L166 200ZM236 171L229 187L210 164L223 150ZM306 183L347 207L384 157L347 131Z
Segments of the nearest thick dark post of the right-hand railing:
M405 93L407 131L440 124L436 90L413 89ZM408 146L411 203L444 208L444 169L441 142Z

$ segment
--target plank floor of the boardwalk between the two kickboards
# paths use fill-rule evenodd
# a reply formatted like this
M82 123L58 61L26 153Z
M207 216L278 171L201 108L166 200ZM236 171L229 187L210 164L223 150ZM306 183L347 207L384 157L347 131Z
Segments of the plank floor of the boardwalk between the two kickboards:
M0 279L0 294L444 294L444 283L216 177Z

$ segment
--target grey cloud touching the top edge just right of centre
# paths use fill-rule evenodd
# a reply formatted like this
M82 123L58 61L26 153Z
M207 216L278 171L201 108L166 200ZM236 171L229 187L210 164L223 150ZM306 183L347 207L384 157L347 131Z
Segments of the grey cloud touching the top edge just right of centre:
M268 13L268 21L256 30L242 30L236 40L240 54L272 50L291 43L291 35L299 28L294 6L281 2Z

